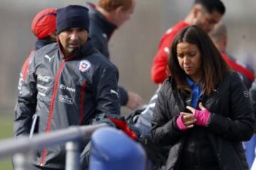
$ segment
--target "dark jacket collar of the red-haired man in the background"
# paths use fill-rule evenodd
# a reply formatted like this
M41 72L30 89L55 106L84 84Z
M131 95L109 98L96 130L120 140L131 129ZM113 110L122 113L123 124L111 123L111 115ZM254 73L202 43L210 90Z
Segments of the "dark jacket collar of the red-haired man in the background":
M89 8L89 15L92 23L97 23L97 25L99 25L103 32L107 35L107 40L110 40L111 35L114 33L114 30L117 29L117 26L108 21L107 18L100 13L100 11L97 11L95 4L87 3L87 7Z

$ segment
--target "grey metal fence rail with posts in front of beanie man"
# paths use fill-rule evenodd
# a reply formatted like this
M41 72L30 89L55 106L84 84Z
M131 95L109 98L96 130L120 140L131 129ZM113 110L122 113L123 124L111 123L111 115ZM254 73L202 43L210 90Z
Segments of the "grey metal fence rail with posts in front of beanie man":
M35 149L52 147L66 142L66 169L79 170L79 141L89 140L92 132L107 124L74 126L64 130L34 135L32 138L20 137L0 141L0 159L14 155L14 165L17 170L28 170L28 154Z

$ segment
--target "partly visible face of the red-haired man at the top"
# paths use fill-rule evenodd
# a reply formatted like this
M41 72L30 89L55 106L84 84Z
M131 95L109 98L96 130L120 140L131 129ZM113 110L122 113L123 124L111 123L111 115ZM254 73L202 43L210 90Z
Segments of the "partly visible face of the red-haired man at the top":
M129 20L129 18L132 16L132 13L134 13L134 8L135 8L135 1L133 0L131 8L127 10L124 10L124 8L122 8L119 11L119 13L117 13L117 16L116 16L117 26L122 26L123 23Z

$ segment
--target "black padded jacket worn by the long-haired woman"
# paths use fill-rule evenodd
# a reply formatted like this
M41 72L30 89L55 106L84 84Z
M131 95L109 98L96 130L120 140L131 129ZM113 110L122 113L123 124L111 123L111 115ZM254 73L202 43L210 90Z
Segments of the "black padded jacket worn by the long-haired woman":
M174 79L166 79L151 120L153 141L171 145L166 169L178 169L178 158L188 134L176 125L180 112L186 111L181 96ZM210 96L203 96L202 102L211 113L206 129L221 169L248 169L241 142L252 136L254 115L248 91L238 74L226 74Z

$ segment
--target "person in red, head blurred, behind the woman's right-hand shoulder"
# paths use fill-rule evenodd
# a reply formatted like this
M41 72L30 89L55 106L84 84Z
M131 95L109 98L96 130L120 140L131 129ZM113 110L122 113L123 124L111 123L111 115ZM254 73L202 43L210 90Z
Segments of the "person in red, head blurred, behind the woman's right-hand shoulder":
M228 66L235 72L238 72L247 89L250 89L252 82L255 79L254 72L248 64L244 64L236 60L234 57L228 54L228 52L226 52L226 47L228 44L228 32L225 23L219 22L216 24L213 30L210 31L209 35L215 46L221 52L225 62L228 63Z

